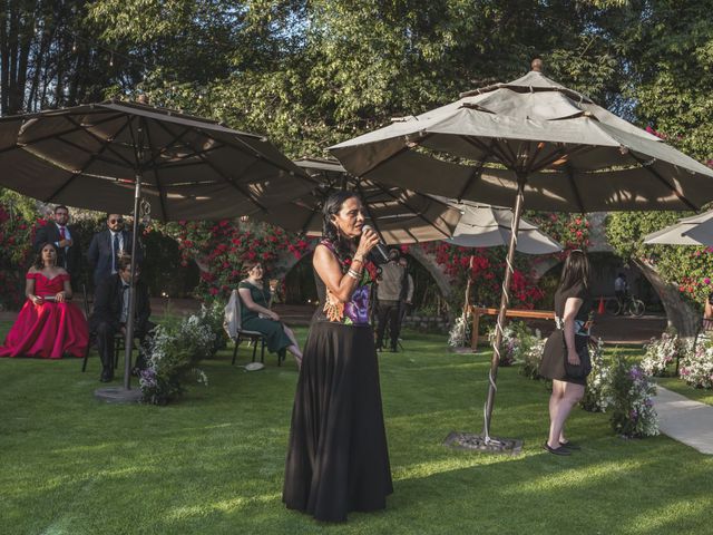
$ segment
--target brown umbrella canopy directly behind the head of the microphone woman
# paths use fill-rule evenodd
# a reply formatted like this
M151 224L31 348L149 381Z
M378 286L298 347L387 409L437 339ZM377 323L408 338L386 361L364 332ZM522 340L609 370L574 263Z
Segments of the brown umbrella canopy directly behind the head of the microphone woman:
M368 217L387 244L443 240L452 235L461 212L430 195L385 186L349 175L335 159L303 158L294 162L318 181L312 191L268 214L257 215L283 228L322 235L322 206L335 191L349 189L364 202Z

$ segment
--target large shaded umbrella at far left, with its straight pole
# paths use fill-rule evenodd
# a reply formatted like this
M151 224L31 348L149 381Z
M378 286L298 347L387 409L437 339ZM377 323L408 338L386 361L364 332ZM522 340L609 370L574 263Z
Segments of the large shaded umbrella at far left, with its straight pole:
M116 100L0 118L0 167L1 186L46 203L127 213L133 202L134 247L139 202L162 221L233 217L267 212L311 188L264 137ZM129 310L118 397L134 396L134 284Z

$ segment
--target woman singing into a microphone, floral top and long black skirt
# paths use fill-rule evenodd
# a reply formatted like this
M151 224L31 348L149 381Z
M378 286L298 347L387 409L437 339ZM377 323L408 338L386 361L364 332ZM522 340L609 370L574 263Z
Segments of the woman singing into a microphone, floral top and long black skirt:
M313 266L320 307L310 325L297 381L283 502L319 521L383 509L393 492L374 335L369 324L367 260L379 236L349 192L324 205Z

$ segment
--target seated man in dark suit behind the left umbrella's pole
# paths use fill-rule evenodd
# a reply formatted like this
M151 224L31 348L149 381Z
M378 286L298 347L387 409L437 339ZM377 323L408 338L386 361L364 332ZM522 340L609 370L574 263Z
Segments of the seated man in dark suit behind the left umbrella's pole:
M131 281L131 259L121 256L118 261L118 272L109 275L97 286L94 298L94 312L89 318L89 328L96 333L99 357L101 358L101 382L114 379L114 337L117 333L126 335L128 320L129 285ZM140 340L140 346L147 348L149 333L154 327L148 321L152 308L148 289L139 279L140 270L136 266L136 315L134 317L134 335ZM139 351L134 370L146 367L144 356Z

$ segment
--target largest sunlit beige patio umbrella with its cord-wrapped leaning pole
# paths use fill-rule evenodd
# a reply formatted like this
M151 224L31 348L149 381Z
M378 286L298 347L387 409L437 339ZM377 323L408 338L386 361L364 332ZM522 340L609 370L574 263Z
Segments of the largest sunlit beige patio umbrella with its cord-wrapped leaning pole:
M492 442L502 324L524 202L563 212L699 210L713 171L533 70L330 147L362 178L498 206L514 205L482 440Z

